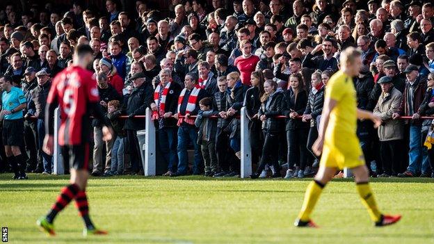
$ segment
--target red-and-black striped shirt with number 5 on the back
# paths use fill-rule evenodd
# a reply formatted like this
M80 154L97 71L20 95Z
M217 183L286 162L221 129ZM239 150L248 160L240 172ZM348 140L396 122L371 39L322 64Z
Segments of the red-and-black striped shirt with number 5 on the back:
M92 72L71 66L58 73L47 98L47 103L55 102L61 108L59 145L87 143L90 135L88 104L99 102L97 81Z

